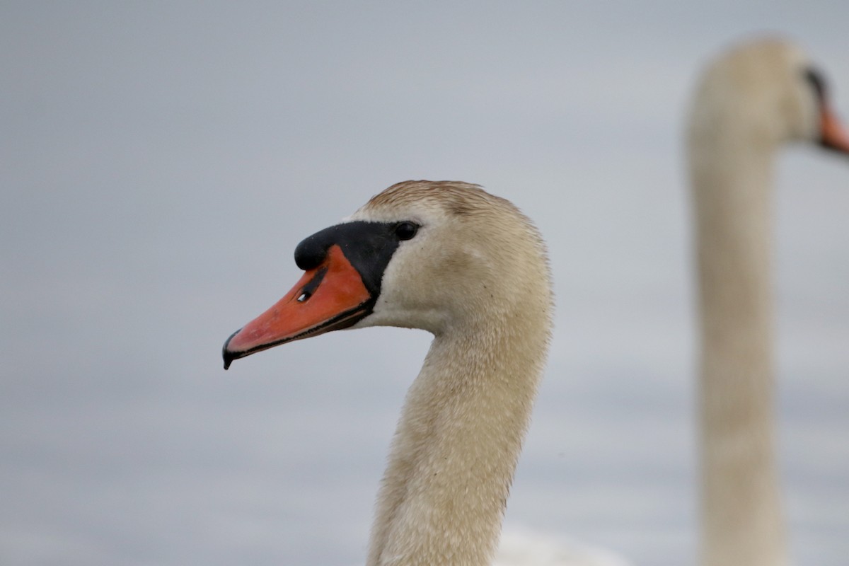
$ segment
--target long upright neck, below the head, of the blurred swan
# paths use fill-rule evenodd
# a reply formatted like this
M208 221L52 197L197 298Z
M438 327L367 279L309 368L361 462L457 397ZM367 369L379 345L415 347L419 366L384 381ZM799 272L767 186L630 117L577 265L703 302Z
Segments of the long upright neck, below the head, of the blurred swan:
M773 454L772 149L694 151L704 566L786 563ZM697 148L698 149L698 148Z

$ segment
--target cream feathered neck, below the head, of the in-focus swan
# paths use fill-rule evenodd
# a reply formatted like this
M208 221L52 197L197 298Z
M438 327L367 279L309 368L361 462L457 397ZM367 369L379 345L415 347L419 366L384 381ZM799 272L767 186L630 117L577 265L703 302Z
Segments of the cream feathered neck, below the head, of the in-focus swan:
M430 346L392 442L368 566L491 562L548 344L545 325L497 328Z

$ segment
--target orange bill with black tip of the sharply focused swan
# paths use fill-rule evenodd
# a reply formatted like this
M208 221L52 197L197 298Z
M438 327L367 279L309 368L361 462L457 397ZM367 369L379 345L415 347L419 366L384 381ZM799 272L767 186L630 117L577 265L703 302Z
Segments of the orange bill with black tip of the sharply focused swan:
M240 357L307 336L347 328L368 312L371 295L339 245L304 273L276 305L248 322L224 344L224 369Z

